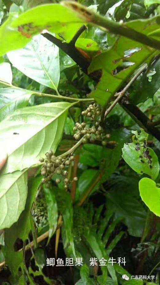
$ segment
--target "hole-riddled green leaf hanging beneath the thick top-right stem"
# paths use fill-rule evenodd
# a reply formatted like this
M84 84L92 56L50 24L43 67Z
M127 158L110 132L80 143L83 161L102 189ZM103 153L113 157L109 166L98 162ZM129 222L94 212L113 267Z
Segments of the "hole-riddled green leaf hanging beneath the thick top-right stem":
M88 72L92 73L100 69L102 76L90 96L99 104L106 105L125 80L152 53L153 51L142 44L120 37L112 48L92 59ZM124 68L126 63L127 65Z

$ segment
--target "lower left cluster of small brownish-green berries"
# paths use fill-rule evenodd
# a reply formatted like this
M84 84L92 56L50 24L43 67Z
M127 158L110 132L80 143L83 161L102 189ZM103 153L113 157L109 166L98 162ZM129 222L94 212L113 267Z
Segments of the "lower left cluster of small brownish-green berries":
M74 156L70 155L67 158L56 157L53 154L53 151L50 150L45 154L46 158L40 158L39 161L43 162L43 166L41 168L41 175L44 176L42 178L42 183L46 183L46 187L49 187L49 181L51 181L53 174L58 174L64 177L64 189L68 189L69 183L73 181L77 181L77 177L74 177L73 180L68 179L68 171L65 170L65 166L69 166L70 163L74 160ZM56 183L60 183L61 179L57 178Z

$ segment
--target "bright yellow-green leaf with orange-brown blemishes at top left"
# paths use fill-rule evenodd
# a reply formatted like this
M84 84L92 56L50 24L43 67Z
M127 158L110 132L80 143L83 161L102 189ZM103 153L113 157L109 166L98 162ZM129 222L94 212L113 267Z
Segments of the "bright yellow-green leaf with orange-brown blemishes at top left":
M32 36L40 34L44 29L60 33L70 41L83 23L70 9L59 4L37 6L19 17L16 13L10 13L0 28L0 55L23 48Z

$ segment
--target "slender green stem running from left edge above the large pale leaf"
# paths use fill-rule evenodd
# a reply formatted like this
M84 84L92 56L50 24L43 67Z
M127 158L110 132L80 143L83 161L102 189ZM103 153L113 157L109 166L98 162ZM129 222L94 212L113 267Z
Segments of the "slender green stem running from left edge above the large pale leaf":
M37 91L27 90L27 89L23 89L23 88L20 88L20 87L17 87L17 86L14 86L12 84L9 84L9 83L6 83L6 82L2 82L2 81L0 81L0 84L2 84L4 86L7 86L7 87L10 87L10 88L23 90L23 91L26 91L26 93L31 93L32 95L37 95L37 96L40 96L40 97L52 97L52 98L58 98L58 99L61 98L61 99L64 99L64 100L69 100L69 101L77 101L77 103L79 101L84 101L84 102L94 101L94 99L92 99L92 98L79 99L79 98L72 98L72 97L62 96L60 94L59 94L59 96L57 96L57 95L53 95L53 94L47 94L47 93L41 93L41 92L37 92Z

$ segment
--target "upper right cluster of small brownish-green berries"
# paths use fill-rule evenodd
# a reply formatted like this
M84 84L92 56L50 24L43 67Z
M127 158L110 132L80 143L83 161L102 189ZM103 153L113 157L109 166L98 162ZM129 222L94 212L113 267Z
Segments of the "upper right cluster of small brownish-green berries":
M88 116L94 121L94 126L86 127L86 123L76 123L73 127L73 131L75 132L74 138L76 140L80 140L83 136L83 143L94 142L95 140L99 140L102 142L102 145L105 146L107 144L107 139L110 138L110 134L105 134L103 127L100 126L100 119L97 118L101 114L100 105L94 103L93 105L89 105L89 107L82 112L82 115Z

